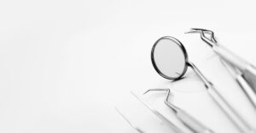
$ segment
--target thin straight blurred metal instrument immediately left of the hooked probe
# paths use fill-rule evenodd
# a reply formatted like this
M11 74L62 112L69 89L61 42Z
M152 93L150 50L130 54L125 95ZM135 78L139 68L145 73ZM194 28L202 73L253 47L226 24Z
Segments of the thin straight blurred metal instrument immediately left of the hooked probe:
M166 119L165 116L160 114L158 111L156 111L154 108L151 108L148 103L144 102L141 97L138 97L135 93L131 92L131 94L136 97L141 103L143 103L144 106L146 106L152 113L154 113L156 116L158 116L160 119L162 119L164 122L166 122L173 131L176 133L184 133L183 130L179 129L177 125L174 125L169 119Z

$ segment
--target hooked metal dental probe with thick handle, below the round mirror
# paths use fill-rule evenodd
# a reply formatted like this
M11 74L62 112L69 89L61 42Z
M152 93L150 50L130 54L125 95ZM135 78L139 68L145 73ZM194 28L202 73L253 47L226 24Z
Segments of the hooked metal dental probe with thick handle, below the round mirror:
M150 89L148 91L167 91L165 103L176 114L177 119L181 120L181 122L183 122L184 125L186 125L190 130L192 130L195 133L213 133L212 130L207 128L207 126L202 125L200 121L193 118L183 109L177 108L177 106L168 102L170 94L172 95L170 89ZM144 94L148 93L148 91L146 91Z

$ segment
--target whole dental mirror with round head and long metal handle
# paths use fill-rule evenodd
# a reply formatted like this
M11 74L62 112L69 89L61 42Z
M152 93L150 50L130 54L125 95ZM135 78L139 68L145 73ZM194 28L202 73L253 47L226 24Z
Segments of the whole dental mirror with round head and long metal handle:
M183 47L183 44L176 38L164 36L157 40L152 47L151 60L158 74L169 80L181 79L188 69L188 66L191 67L207 87L207 92L210 94L213 101L223 110L230 121L236 125L236 128L240 130L241 133L256 132L236 113L236 110L224 100L224 97L222 97L212 83L201 74L201 71L195 67L195 64L189 62L185 47Z

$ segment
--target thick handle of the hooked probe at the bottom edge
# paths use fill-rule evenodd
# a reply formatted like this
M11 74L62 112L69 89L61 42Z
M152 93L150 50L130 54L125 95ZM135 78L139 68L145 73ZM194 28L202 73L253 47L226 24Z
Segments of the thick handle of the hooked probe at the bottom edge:
M189 129L193 130L195 133L213 133L212 130L208 129L205 125L202 125L201 122L183 110L177 111L177 118L180 119L184 125L189 127Z

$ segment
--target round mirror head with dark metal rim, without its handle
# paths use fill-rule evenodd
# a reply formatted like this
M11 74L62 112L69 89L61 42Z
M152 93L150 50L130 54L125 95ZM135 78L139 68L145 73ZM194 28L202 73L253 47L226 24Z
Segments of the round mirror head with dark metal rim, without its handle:
M151 51L154 69L169 80L180 79L185 74L188 69L187 57L183 44L171 36L161 37Z

